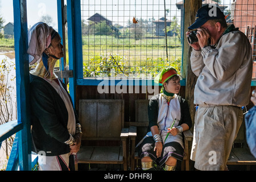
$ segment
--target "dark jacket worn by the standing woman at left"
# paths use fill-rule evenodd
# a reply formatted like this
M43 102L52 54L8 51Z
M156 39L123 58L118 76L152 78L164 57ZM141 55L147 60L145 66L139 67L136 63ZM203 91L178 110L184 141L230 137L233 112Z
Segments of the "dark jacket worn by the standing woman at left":
M68 111L62 98L46 80L34 75L30 75L30 92L32 151L43 151L47 156L67 154L70 148L64 142L69 139ZM75 117L78 123L76 112Z

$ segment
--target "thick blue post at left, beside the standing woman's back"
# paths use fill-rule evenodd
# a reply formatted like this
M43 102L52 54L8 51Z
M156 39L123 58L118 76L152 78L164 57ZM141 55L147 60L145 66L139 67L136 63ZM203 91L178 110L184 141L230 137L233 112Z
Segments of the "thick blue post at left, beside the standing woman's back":
M13 0L13 9L17 116L18 122L23 122L23 129L18 132L19 169L28 171L31 170L31 134L26 0Z

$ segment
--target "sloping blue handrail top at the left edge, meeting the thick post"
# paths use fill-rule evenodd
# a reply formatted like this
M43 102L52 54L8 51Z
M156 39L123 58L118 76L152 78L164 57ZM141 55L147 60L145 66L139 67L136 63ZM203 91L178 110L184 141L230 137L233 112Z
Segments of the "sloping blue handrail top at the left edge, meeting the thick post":
M0 125L0 142L9 138L11 135L17 133L23 129L23 123L17 120L9 121L3 125Z

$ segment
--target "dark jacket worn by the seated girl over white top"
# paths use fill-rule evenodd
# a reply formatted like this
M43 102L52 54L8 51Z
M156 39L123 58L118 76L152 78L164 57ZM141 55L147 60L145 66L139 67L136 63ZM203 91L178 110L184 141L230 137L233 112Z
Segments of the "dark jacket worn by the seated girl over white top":
M177 96L180 101L180 111L181 111L181 118L179 125L186 123L189 129L192 126L191 115L189 113L188 103L184 98ZM148 129L147 131L151 131L150 128L152 126L158 126L158 109L159 109L159 94L153 96L148 104Z

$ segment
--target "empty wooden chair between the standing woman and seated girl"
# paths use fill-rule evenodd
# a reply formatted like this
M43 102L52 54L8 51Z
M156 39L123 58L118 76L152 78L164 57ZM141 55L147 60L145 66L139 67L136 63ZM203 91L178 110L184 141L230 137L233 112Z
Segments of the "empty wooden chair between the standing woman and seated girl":
M76 170L78 163L90 163L123 164L126 171L129 129L124 128L124 101L80 100L79 119L82 146L77 153Z

